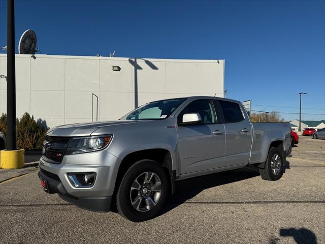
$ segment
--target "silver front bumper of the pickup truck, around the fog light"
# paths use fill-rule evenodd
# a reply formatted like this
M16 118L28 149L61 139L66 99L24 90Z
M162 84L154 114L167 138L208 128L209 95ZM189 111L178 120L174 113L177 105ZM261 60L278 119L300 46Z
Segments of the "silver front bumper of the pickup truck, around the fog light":
M107 151L64 156L60 164L40 159L38 173L47 193L57 193L63 200L78 207L107 212L110 210L116 174L120 160ZM87 188L75 187L68 178L69 173L94 172L94 184Z

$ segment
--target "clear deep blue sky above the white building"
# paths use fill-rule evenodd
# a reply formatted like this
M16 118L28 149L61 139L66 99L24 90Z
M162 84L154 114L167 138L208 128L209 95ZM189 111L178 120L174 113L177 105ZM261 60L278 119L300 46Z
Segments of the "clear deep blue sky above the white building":
M251 99L254 110L298 113L298 93L307 92L302 112L325 114L325 1L16 0L15 8L16 45L34 29L46 54L224 58L229 98Z

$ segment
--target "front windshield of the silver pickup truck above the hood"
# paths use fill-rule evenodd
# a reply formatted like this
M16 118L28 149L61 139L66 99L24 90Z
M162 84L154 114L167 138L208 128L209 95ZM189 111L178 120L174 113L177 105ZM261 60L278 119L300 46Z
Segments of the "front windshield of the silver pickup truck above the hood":
M164 119L171 115L184 101L185 98L177 98L147 103L127 113L120 119Z

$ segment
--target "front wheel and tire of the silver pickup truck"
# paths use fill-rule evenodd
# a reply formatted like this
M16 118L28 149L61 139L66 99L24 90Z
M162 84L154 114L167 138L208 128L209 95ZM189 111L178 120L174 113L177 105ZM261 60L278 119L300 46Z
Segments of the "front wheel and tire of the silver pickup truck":
M145 182L145 177L150 181ZM116 194L117 211L133 222L150 220L164 207L169 190L167 170L153 160L140 160L122 178Z

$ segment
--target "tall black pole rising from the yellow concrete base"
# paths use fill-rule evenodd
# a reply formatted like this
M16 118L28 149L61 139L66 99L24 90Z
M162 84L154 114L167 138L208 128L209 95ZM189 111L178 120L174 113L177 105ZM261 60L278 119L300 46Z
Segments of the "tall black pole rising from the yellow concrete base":
M7 150L16 150L15 3L8 0L7 14Z

